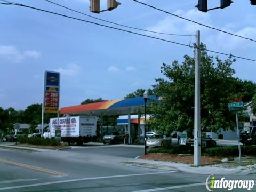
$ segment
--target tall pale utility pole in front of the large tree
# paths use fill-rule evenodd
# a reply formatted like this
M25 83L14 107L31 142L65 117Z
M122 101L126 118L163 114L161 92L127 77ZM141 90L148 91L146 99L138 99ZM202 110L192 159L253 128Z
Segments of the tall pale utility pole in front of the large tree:
M201 165L201 122L200 122L200 31L196 31L195 48L195 119L194 119L194 165Z

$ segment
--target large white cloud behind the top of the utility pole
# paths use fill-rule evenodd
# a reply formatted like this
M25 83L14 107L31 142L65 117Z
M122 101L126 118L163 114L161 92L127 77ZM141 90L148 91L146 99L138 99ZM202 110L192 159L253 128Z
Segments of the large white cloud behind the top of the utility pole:
M214 26L213 21L211 20L210 13L203 13L201 11L197 11L196 9L193 9L187 12L183 10L177 10L174 12L174 14L180 15L183 18L189 18L190 20L199 21L200 23L204 23L207 26L220 28L220 27ZM256 14L247 14L245 15L245 18L256 18ZM250 21L252 21L252 19ZM200 30L201 42L206 44L208 49L213 51L221 51L225 53L231 53L238 50L244 51L247 49L252 49L254 47L254 42L246 41L243 38L231 36L229 34L212 30L210 28L206 28L204 26L197 25L196 23L182 20L180 18L173 17L173 16L167 16L164 19L159 20L157 23L155 23L154 26L149 26L145 29L159 31L162 33L187 34L187 35L195 35L195 31ZM247 27L247 26L241 27L241 23L230 22L230 23L227 23L225 27L222 27L220 29L223 31L229 31L230 33L233 33L239 36L256 39L256 27ZM172 36L159 35L159 34L157 36L164 39L172 37ZM183 40L180 38L179 40L177 40L178 37L174 37L174 38L177 42L186 41L185 43L188 44L187 38L183 38ZM192 38L192 41L195 42L195 37Z

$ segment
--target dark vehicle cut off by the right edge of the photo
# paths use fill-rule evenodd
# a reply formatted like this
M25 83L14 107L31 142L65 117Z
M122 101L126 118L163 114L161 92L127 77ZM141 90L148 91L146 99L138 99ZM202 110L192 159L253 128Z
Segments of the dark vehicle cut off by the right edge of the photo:
M240 132L240 142L244 145L256 145L256 126L244 127Z

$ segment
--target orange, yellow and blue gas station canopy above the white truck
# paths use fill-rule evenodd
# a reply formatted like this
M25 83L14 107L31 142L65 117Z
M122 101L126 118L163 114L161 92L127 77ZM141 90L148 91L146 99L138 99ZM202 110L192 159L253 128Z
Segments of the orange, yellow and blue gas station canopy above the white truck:
M158 98L155 95L150 95L147 105L150 105L152 100L158 101ZM60 113L84 115L126 115L129 113L138 114L139 110L143 113L144 107L145 101L143 97L135 97L62 107L60 109Z

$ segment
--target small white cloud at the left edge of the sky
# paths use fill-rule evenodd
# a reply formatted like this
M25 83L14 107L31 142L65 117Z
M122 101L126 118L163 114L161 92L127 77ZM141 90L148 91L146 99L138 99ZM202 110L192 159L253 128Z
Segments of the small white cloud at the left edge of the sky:
M34 50L28 50L28 51L21 52L15 46L11 46L11 45L2 46L2 45L0 45L0 57L12 60L14 62L20 63L23 60L25 60L27 57L37 59L40 56L41 56L41 53L37 52L37 51L34 51Z

